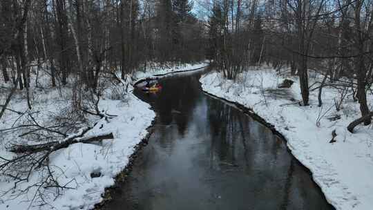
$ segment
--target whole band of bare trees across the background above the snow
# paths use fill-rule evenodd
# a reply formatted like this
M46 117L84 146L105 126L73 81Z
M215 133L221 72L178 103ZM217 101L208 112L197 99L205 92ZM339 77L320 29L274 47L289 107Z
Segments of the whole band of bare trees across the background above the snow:
M17 88L29 91L33 65L50 75L51 86L74 78L95 90L102 72L121 72L124 79L152 62L207 57L229 79L263 62L290 66L305 106L309 69L325 75L320 93L328 78L348 78L362 115L371 115L373 1L196 2L204 17L191 12L189 0L2 0L0 68L14 84L10 97ZM364 121L370 124L369 117Z

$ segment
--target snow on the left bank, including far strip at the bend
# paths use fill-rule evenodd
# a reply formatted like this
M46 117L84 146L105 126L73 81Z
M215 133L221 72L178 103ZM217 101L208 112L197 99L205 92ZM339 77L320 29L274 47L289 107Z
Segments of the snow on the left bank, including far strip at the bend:
M207 65L207 62L201 62L165 68L153 67L145 72L136 73L135 78L144 79L153 75L195 70ZM33 171L27 182L19 183L14 178L0 175L0 209L93 209L95 204L102 202L105 189L115 184L115 177L126 168L137 145L148 135L147 128L151 126L155 113L149 104L133 95L133 87L126 85L132 84L129 77L125 81L122 80L122 86L115 85L114 82L104 82L98 107L102 113L116 116L108 121L94 115L77 115L73 108L71 85L52 88L48 74L40 73L38 79L35 77L36 74L32 73L32 109L28 110L26 91L17 90L8 106L9 110L1 119L1 158L9 160L16 157L17 154L10 152L15 144L32 145L64 141L63 137L54 135L55 133L43 142L38 140L36 135L22 135L35 129L23 128L23 125L32 121L30 116L40 126L50 129L59 126L62 127L60 130L68 135L79 133L79 128L90 126L92 129L84 136L113 133L114 139L102 140L97 144L71 144L65 149L51 153L48 162L54 170L52 173L61 186L68 187L62 191L41 187L45 184L41 183L46 178L44 170ZM6 84L1 79L0 84L5 84L0 88L0 104L4 104L11 84Z

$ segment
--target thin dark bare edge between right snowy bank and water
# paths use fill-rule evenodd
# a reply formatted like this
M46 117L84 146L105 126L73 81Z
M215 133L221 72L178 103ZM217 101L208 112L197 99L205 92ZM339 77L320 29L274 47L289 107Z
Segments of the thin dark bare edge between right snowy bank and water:
M242 104L239 104L238 102L232 102L228 99L225 99L223 97L219 97L217 95L213 95L212 93L209 93L207 92L206 90L203 90L203 88L201 87L201 90L204 94L206 95L209 95L210 97L213 97L215 99L219 99L221 100L222 102L225 102L226 104L229 104L229 106L233 106L235 108L237 108L239 111L241 111L242 113L246 114L246 115L249 115L249 117L253 118L254 120L256 120L257 122L259 122L260 124L266 126L267 128L269 128L269 130L276 136L280 137L282 140L284 140L285 142L287 142L287 139L286 137L280 133L279 131L276 130L276 127L273 125L273 124L270 124L269 122L267 122L264 118L260 117L260 115L256 114L255 111L252 109L252 108L249 108L247 106L244 106ZM289 153L291 153L291 149L289 148L289 146L286 144L286 148L287 148L287 151L289 151ZM325 194L325 192L323 191L323 189L321 188L321 185L314 179L314 174L312 173L311 169L309 169L307 166L305 166L305 164L303 164L302 162L300 162L300 160L298 160L298 158L296 158L295 155L293 155L293 153L291 153L291 156L294 157L294 159L296 161L298 161L298 163L300 165L303 166L303 168L309 173L309 175L311 175L312 177L312 181L314 183L316 183L316 186L318 187L318 189L321 191L321 193L323 193L323 197L325 198L325 200L329 203L330 206L332 206L334 209L336 209L336 207L334 207L334 205L332 204L331 200L329 200L327 198L327 195Z

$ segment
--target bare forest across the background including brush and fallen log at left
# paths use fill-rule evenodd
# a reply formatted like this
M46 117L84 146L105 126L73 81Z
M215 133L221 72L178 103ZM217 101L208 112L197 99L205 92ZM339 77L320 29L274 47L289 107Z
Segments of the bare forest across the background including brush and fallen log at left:
M1 0L0 26L0 180L12 183L0 196L17 189L12 198L45 204L75 188L50 155L115 138L90 133L119 115L99 104L131 104L136 74L151 68L208 60L236 82L260 66L288 69L296 104L315 93L321 107L334 88L333 109L358 104L348 131L372 121L371 0Z

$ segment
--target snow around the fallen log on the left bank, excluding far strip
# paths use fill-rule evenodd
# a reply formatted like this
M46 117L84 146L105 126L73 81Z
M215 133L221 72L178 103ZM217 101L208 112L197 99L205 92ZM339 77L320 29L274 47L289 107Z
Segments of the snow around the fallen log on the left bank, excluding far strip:
M40 124L48 123L52 113L63 111L70 104L68 99L71 97L68 94L68 88L35 88L35 104L32 111L39 112L37 120ZM1 99L3 98L0 98L0 102ZM25 97L17 93L9 108L26 111ZM71 144L68 148L50 155L50 166L55 170L54 174L59 184L66 184L66 187L71 189L59 192L52 188L43 189L44 195L41 197L37 190L43 172L32 173L28 182L17 184L17 189L12 189L15 180L0 176L0 209L93 209L95 204L102 201L104 189L114 184L115 176L127 166L128 158L134 153L135 146L148 134L147 128L151 126L155 113L149 104L137 99L132 93L127 93L126 98L121 100L109 97L101 99L99 108L117 117L113 117L109 122L99 120L86 135L113 133L113 140L104 140L97 144ZM19 116L16 113L7 112L0 122L0 130L12 126L17 117ZM96 121L96 117L91 120ZM73 123L79 126L81 122L77 119ZM19 134L1 134L1 157L10 158L14 155L7 151L6 146L17 143ZM91 178L91 173L98 177ZM33 184L35 186L30 187ZM60 195L56 196L56 193Z

